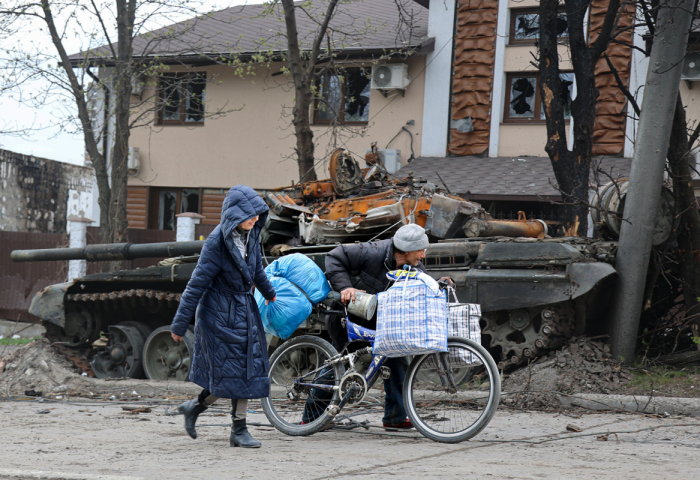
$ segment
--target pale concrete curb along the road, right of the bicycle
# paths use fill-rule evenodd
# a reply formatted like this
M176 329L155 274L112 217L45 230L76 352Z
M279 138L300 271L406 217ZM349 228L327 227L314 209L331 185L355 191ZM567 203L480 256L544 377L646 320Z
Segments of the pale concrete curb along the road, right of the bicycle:
M582 407L589 410L624 410L657 415L689 415L700 417L700 398L650 397L633 395L603 395L581 393L557 394L564 407Z

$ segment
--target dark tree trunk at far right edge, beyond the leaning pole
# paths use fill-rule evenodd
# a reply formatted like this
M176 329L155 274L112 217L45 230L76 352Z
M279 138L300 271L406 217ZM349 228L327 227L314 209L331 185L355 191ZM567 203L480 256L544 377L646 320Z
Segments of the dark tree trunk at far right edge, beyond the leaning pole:
M681 212L678 229L678 260L683 281L683 300L686 317L691 317L693 336L699 335L700 326L700 213L691 182L690 143L688 141L685 109L680 93L676 100L668 163L673 178L676 211Z

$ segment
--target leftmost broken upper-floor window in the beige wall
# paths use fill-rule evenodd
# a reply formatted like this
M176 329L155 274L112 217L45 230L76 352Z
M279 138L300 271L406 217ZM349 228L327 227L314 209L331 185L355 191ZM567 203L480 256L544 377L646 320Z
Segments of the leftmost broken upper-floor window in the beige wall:
M158 123L204 123L206 82L207 77L204 73L163 75L158 85Z

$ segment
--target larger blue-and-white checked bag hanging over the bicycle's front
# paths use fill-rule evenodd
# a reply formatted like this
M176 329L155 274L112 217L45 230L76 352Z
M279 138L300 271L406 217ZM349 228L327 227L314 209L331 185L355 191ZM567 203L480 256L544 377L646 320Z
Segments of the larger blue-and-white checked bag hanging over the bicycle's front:
M396 282L377 294L375 355L405 357L447 351L447 295L430 288L431 282L422 275L409 270L387 274Z

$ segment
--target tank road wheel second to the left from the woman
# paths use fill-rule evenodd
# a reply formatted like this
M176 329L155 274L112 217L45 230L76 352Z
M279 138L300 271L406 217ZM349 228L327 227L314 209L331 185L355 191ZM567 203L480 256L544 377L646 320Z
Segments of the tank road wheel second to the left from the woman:
M143 378L143 344L151 329L140 322L109 327L107 348L92 359L97 378Z

